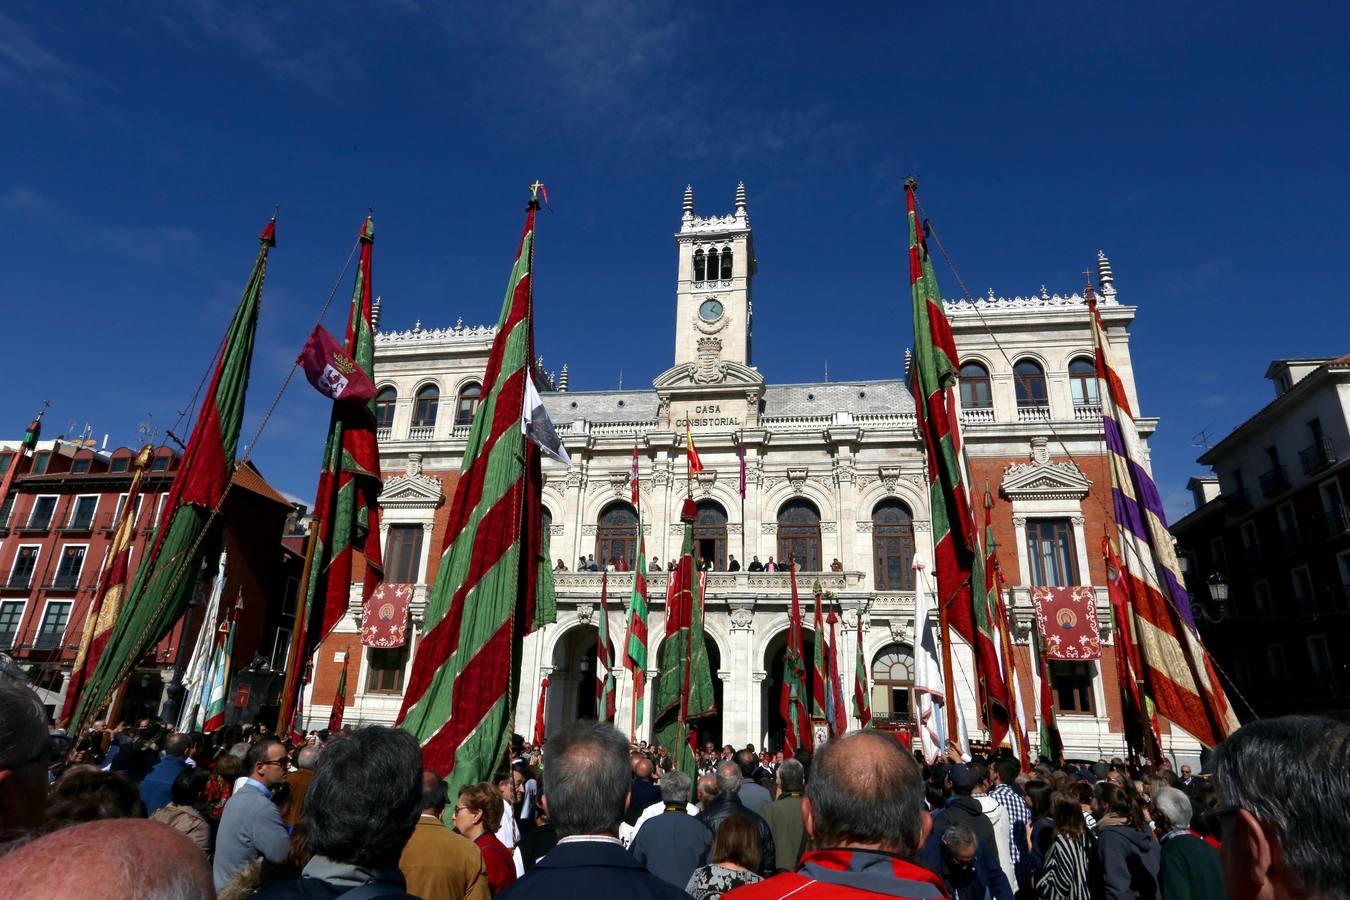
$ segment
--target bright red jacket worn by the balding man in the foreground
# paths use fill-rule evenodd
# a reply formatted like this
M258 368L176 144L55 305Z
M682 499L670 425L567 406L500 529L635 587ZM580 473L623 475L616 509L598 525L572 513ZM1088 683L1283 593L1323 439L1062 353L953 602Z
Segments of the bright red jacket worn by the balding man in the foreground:
M784 872L722 895L728 900L822 900L840 897L946 897L942 880L892 853L876 850L809 850L796 872Z

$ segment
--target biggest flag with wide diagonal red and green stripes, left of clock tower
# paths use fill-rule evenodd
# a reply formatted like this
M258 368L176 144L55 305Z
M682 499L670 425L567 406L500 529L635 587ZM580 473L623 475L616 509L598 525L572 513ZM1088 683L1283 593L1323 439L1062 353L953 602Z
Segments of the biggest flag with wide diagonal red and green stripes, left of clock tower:
M535 359L531 266L537 186L450 509L424 634L398 722L452 795L489 779L510 739L525 634L556 617L543 536L540 449L522 416Z

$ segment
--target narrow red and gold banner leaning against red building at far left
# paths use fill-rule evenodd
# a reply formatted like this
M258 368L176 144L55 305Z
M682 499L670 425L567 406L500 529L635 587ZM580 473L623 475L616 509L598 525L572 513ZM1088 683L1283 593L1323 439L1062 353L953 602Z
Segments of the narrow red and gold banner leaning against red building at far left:
M150 459L154 448L148 444L140 448L131 461L131 484L127 486L127 499L122 503L122 515L113 525L112 544L108 555L103 559L103 569L99 572L99 587L85 614L84 634L80 638L80 652L70 667L70 681L66 684L66 702L61 708L59 723L62 727L70 723L76 714L76 703L84 694L84 687L94 673L103 650L108 645L112 626L122 611L122 598L127 590L127 572L131 567L131 542L136 536L136 511L140 509L140 488L144 486L146 472L150 471ZM202 627L211 627L204 623Z

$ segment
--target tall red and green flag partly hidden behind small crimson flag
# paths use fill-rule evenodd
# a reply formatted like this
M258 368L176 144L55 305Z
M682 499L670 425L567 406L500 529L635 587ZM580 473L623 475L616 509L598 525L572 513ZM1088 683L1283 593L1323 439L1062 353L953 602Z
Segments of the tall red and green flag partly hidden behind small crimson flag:
M360 263L347 312L346 352L366 375L374 374L375 329L371 324L371 263L375 223L360 225ZM364 403L332 401L324 463L315 494L312 552L301 588L302 613L296 617L281 694L279 729L300 733L300 706L309 658L347 611L355 552L364 557L362 602L383 580L379 553L379 448L375 443L375 399Z

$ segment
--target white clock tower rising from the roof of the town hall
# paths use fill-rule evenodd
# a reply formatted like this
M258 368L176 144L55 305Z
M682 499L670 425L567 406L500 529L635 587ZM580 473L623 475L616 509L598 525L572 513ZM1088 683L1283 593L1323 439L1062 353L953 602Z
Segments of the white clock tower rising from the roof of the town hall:
M675 366L706 374L725 371L726 363L749 366L755 244L745 184L737 185L736 212L729 216L695 216L694 188L686 188L675 243Z

